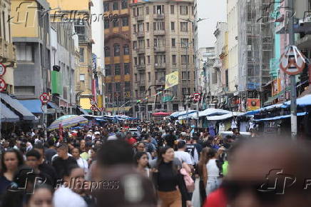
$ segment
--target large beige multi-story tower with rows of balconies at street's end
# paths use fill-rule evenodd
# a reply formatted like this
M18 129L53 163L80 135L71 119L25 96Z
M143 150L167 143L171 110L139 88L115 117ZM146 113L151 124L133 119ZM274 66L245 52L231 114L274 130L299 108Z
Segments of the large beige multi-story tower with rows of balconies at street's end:
M142 103L146 110L141 110L143 112L138 116L150 118L157 110L185 109L186 96L196 91L193 22L193 0L136 1L131 4L133 97L152 96ZM175 99L163 104L163 96L153 95L164 89L165 75L174 71L179 72L178 86L163 94L175 96Z

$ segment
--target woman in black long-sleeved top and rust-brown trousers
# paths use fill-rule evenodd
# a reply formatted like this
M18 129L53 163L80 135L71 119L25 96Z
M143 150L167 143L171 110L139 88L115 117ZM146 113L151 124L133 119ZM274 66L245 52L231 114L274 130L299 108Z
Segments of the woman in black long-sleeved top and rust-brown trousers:
M173 163L174 150L169 146L159 148L158 160L153 169L153 181L158 190L161 207L192 206L183 175ZM185 202L183 202L185 201Z

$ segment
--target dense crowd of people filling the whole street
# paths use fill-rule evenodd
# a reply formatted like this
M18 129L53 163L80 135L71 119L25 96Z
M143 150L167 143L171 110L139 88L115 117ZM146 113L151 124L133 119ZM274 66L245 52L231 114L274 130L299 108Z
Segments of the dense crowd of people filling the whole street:
M17 130L0 142L0 206L311 206L310 189L259 191L272 169L307 178L310 143L231 130L210 136L208 128L138 121L47 138Z

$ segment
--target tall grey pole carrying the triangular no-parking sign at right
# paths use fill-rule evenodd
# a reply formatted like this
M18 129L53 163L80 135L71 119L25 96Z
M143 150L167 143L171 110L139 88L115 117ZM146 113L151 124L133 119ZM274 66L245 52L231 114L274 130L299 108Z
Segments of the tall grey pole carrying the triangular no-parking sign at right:
M295 14L294 10L294 0L287 0L287 6L290 8L292 14ZM295 35L294 35L294 16L290 17L292 14L288 14L289 24L288 24L288 33L290 38L290 46L295 44ZM290 76L290 122L292 129L292 139L297 139L297 91L296 91L296 76Z

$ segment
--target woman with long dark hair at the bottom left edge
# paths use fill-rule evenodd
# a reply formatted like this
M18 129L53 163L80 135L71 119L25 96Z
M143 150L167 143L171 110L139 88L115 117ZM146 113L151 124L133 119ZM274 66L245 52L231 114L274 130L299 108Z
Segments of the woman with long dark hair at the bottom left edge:
M15 148L9 148L1 155L0 198L14 180L15 173L24 164L24 158ZM1 200L1 199L0 199Z

